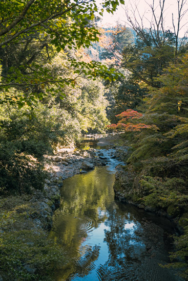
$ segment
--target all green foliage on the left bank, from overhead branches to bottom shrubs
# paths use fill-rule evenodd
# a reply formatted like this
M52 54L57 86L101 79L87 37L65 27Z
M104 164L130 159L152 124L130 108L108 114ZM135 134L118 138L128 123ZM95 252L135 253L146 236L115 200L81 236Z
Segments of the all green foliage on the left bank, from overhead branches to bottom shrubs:
M99 37L95 13L113 13L117 5L0 3L0 279L51 280L65 262L62 249L32 223L45 216L33 212L32 194L45 194L46 155L74 144L88 130L103 133L108 124L101 82L119 74L87 52ZM50 200L47 222L56 198Z

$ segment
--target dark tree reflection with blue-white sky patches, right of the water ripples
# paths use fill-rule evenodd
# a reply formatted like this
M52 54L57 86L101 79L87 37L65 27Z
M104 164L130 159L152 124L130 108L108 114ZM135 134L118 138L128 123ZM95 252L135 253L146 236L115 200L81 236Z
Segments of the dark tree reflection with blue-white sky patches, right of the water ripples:
M145 255L143 229L134 208L130 213L126 205L121 206L120 203L115 204L105 222L109 227L109 230L105 230L104 239L108 245L109 258L97 269L100 280L139 280L133 276Z

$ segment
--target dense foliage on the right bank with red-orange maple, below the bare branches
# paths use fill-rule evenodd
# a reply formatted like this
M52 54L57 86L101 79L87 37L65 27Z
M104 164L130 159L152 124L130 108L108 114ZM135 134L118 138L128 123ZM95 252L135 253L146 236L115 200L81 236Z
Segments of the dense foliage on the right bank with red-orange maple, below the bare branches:
M128 199L167 213L184 227L183 237L175 242L178 251L171 257L172 265L183 267L182 276L187 279L188 55L186 48L177 55L173 36L156 48L150 31L138 32L135 45L123 49L126 57L122 56L121 67L146 89L145 97L137 104L137 111L124 104L124 111L116 111L117 123L108 127L126 132L131 143L125 168L131 186ZM124 90L125 99L128 95Z

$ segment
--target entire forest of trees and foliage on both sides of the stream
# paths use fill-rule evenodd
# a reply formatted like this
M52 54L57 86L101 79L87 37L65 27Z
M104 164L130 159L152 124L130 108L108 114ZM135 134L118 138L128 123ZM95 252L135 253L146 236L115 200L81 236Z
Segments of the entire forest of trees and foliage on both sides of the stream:
M101 9L92 0L1 1L0 279L51 280L55 263L62 266L64 253L46 234L16 226L12 233L9 223L26 215L17 205L44 192L47 155L87 132L111 131L123 132L129 146L127 181L115 182L116 193L181 226L171 265L188 279L188 42L180 36L187 10L178 0L178 21L165 30L164 4L159 15L150 6L150 28L136 8L126 12L129 25L101 28L96 12L113 13L118 0ZM25 236L36 241L32 249ZM40 265L38 275L28 261Z

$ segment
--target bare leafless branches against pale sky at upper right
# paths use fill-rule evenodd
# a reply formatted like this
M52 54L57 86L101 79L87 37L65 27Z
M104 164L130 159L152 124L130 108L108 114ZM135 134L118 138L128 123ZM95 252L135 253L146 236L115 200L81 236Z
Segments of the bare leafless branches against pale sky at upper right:
M177 0L177 19L175 19L175 15L172 13L172 25L174 29L174 33L172 33L165 28L165 2L165 0L160 0L156 4L155 0L153 0L152 4L148 4L151 11L150 18L148 18L148 15L145 16L145 13L142 15L139 13L137 4L135 4L135 6L131 4L131 9L126 10L126 15L130 26L134 29L136 34L145 41L145 43L147 43L148 40L147 34L152 37L154 45L158 48L164 45L166 41L172 40L172 42L174 42L174 56L176 58L184 40L186 39L185 35L187 31L185 31L181 40L179 38L179 32L187 24L187 22L185 22L181 25L181 22L187 14L188 9L186 8L186 0ZM149 22L149 29L146 29L143 26L145 19ZM145 32L147 32L147 34L145 34Z

